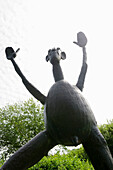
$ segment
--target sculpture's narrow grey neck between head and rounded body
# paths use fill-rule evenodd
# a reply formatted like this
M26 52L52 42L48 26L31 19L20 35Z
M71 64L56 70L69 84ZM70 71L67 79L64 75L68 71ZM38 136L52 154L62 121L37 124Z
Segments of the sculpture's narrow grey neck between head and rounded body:
M59 63L56 63L56 64L53 65L53 76L54 76L55 82L64 79L62 69L61 69Z

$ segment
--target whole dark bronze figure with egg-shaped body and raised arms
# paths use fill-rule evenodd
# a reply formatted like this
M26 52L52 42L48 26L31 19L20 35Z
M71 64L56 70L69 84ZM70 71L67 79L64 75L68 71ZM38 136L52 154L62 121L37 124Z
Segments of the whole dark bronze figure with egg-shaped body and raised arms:
M57 144L77 146L83 144L96 170L112 170L113 158L107 143L97 128L93 112L81 92L87 71L85 45L87 39L82 32L78 34L76 43L83 49L83 64L76 86L64 80L60 60L66 54L60 48L48 51L46 61L53 66L55 84L50 88L47 97L37 90L22 74L14 57L12 47L6 48L7 59L11 60L22 82L29 92L45 105L46 130L39 133L25 146L20 148L1 167L3 170L24 170L36 164L47 152Z

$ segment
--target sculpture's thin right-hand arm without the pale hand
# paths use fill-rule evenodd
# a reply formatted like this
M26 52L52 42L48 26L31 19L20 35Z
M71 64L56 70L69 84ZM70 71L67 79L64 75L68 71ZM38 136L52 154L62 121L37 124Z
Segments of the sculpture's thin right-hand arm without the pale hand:
M84 88L84 82L85 82L85 76L86 76L86 72L87 72L87 54L86 54L86 48L83 47L83 63L82 63L82 67L81 67L81 72L77 81L76 86L83 91Z

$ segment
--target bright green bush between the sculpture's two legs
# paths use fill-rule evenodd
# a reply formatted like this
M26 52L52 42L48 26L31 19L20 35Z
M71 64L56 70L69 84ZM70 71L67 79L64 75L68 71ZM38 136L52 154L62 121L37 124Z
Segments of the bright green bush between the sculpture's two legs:
M76 151L75 151L76 152ZM93 170L93 166L87 160L82 160L73 153L50 155L41 159L35 166L29 170Z

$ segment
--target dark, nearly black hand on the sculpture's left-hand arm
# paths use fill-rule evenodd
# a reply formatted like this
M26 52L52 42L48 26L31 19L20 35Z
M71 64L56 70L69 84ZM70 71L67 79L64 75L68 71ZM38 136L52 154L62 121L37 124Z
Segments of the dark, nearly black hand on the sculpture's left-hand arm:
M16 53L20 50L20 48L18 48L16 51L14 51L14 49L12 47L7 47L5 49L5 53L6 53L6 57L8 60L11 60L13 58L16 57Z

